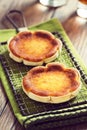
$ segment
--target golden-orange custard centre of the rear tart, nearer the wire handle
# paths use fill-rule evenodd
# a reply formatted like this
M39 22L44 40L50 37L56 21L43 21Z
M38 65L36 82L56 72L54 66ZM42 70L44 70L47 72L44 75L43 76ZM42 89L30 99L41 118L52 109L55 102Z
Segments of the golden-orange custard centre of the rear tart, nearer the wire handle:
M18 45L14 43L14 47L17 54L19 54L20 57L26 58L26 57L38 57L41 56L45 58L45 55L51 51L53 48L53 45L50 44L49 40L42 40L42 39L31 39L18 42ZM25 53L26 52L26 53Z

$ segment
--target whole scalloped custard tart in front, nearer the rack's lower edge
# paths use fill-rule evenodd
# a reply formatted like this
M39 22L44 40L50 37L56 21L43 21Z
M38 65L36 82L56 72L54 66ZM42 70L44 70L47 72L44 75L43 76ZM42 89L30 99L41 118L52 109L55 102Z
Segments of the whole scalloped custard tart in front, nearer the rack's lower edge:
M61 103L74 98L81 88L80 74L58 62L31 69L23 78L23 90L33 100Z

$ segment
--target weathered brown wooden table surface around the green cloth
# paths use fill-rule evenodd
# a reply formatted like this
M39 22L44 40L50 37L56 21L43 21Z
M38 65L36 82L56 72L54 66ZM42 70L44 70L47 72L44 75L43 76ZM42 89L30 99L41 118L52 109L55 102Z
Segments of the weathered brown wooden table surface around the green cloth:
M39 24L53 17L58 18L83 62L87 66L87 19L76 14L77 0L67 0L58 8L42 6L38 0L0 0L0 29L12 28L5 14L12 9L21 10L27 26ZM68 126L66 130L87 130L87 123ZM0 83L0 130L24 130L13 115L11 106ZM57 130L59 130L57 128Z

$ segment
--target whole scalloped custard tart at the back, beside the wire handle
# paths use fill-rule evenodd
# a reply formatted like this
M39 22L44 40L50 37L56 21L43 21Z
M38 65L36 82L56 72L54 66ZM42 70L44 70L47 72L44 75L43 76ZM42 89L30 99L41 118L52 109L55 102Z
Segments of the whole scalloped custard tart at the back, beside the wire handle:
M48 31L23 31L8 41L10 57L25 65L42 65L53 61L61 51L62 43Z

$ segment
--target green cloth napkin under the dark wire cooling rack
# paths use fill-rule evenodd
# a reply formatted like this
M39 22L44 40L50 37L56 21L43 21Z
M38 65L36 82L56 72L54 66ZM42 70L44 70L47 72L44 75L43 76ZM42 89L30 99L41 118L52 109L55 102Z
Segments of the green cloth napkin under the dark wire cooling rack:
M84 63L83 63L83 61L81 60L80 56L77 54L75 48L73 47L71 41L69 40L67 34L65 33L65 31L64 31L64 29L63 29L61 23L58 21L58 19L51 19L51 20L46 21L45 23L41 23L41 24L39 24L39 25L37 25L37 26L29 27L28 29L29 29L29 30L38 30L38 29L41 29L41 30L48 30L48 31L50 31L50 32L55 32L55 31L59 32L59 33L61 34L61 36L63 37L63 39L66 41L67 46L70 48L72 54L73 54L74 57L76 58L78 64L81 66L82 70L85 72L85 74L87 74L87 68L86 68L86 66L84 65ZM16 35L16 31L15 31L14 29L0 30L0 42L7 41L10 37L15 36L15 35ZM7 45L1 45L1 47L0 47L0 54L3 54L3 55L4 55L5 53L8 54L8 52L7 52ZM61 57L61 54L60 54L60 58L59 58L58 60L61 61L61 59L62 59L62 57ZM64 60L63 62L65 62L65 60ZM69 62L71 62L71 61L69 60ZM9 63L12 63L12 64L14 63L14 64L16 64L15 62L10 61L10 60L9 60ZM72 63L71 63L71 64L72 64ZM72 66L72 65L71 65L71 66ZM15 65L14 65L14 67L15 67ZM24 66L23 66L23 69L25 69ZM22 71L21 67L20 67L20 70ZM17 70L17 72L18 72L18 70ZM17 72L16 72L16 73L17 73ZM14 72L14 73L15 73L15 72ZM20 72L19 72L19 73L20 73ZM18 74L18 73L17 73L17 74ZM14 75L13 75L13 76L14 76ZM5 90L5 92L6 92L6 95L7 95L8 99L9 99L9 101L10 101L10 104L11 104L11 106L12 106L12 110L13 110L13 112L14 112L14 115L16 116L16 118L18 119L18 121L19 121L22 125L24 125L25 127L32 127L32 128L33 128L34 122L36 122L36 123L39 122L39 125L40 125L40 123L41 123L41 124L44 124L43 122L46 121L46 123L45 123L44 125L42 125L42 126L43 126L42 129L44 129L45 127L48 128L48 125L46 125L46 124L49 124L49 128L51 128L51 127L52 127L52 125L51 125L51 120L53 120L53 119L55 120L55 126L58 125L57 118L59 119L60 117L62 117L62 114L59 114L59 112L60 112L61 110L59 110L58 113L57 113L57 111L56 111L56 112L55 112L55 111L52 111L53 113L52 113L52 112L51 112L51 113L50 113L50 112L48 112L48 113L42 112L41 115L40 115L40 113L41 113L41 110L40 110L40 113L37 112L37 115L34 115L34 114L23 115L23 114L20 112L20 108L19 108L19 106L18 106L18 104L17 104L17 102L16 102L16 100L15 100L15 96L14 96L13 91L12 91L12 88L11 88L11 86L10 86L10 84L9 84L8 78L7 78L7 76L6 76L5 72L4 72L4 68L3 68L2 64L0 64L0 78L1 78L1 81L2 81L2 84L3 84L3 87L4 87L4 90ZM21 80L20 77L19 77L18 80ZM18 81L18 82L21 82L21 81ZM83 81L82 81L82 82L83 82ZM14 81L13 81L13 84L15 84ZM83 83L83 84L84 84L84 85L83 85L83 86L84 86L83 88L85 89L85 87L86 87L87 85L86 85L85 83ZM15 85L14 85L14 86L15 86ZM85 94L85 95L87 96L87 94ZM83 100L84 100L84 99L82 99L82 101L83 101ZM37 103L36 103L36 104L37 104ZM35 105L36 105L36 104L35 104ZM32 105L32 104L31 104L31 105ZM83 105L84 105L84 104L83 104ZM43 105L42 105L42 106L43 106ZM35 107L37 107L37 106L35 106ZM72 107L70 107L70 109L72 109ZM76 112L80 113L79 110L77 111L76 108L75 108L75 110L76 110ZM82 109L82 110L83 110L83 109ZM39 110L38 110L38 111L39 111ZM71 114L72 114L72 115L73 115L73 114L76 115L76 113L75 113L75 112L72 113L71 110L70 110L70 112L68 112L68 111L66 111L66 109L64 108L64 111L65 111L65 112L63 112L63 114L65 113L64 116L65 116L66 118L67 118L67 116L70 118L70 115L71 115ZM85 112L86 112L86 109L84 109L83 112L85 113ZM49 122L48 122L48 118L49 118ZM55 118L56 118L56 119L55 119ZM70 119L71 119L71 118L70 118ZM69 121L70 119L68 119L68 121ZM63 120L63 119L62 119L62 120ZM60 125L63 123L62 120L60 120ZM85 120L85 117L83 117L82 120ZM75 122L75 121L73 121L73 122ZM53 121L52 121L52 123L53 123ZM72 121L71 121L71 123L72 123ZM66 120L65 124L67 124L67 120ZM41 127L41 126L39 126L39 125L38 125L38 128Z

